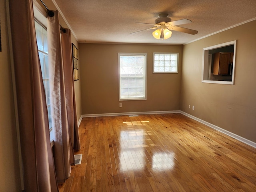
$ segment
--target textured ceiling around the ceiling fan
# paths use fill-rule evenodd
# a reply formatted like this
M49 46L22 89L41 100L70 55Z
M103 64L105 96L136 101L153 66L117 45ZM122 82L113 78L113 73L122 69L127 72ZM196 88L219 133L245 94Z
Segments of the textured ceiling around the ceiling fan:
M186 44L242 22L256 19L256 0L54 0L78 42ZM146 24L167 13L172 21L187 18L180 27L198 30L190 35L172 32L157 40Z

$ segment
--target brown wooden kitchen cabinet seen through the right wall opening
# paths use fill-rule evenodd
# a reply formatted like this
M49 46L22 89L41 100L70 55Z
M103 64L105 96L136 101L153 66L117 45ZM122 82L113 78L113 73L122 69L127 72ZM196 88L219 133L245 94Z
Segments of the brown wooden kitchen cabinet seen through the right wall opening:
M228 75L229 65L233 62L232 52L218 52L214 54L213 74L214 75Z

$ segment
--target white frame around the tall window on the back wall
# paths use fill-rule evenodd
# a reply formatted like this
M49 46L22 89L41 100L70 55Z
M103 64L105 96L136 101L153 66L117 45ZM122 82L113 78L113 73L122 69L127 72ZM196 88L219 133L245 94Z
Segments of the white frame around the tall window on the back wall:
M144 97L132 97L132 98L121 98L121 74L120 74L120 56L144 56L144 71L143 71L143 86L144 86ZM126 101L126 100L147 100L147 53L118 53L118 96L119 101Z

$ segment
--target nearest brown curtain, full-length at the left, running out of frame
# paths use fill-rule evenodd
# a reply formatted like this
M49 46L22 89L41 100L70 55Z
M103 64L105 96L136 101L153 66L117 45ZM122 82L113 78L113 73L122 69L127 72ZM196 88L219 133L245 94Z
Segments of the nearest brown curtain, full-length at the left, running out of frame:
M58 192L32 0L9 1L26 192Z

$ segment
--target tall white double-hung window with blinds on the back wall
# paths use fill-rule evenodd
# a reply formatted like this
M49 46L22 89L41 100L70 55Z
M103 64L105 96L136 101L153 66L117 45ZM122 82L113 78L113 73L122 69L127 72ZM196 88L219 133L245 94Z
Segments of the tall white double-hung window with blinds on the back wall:
M118 53L119 100L146 100L146 53Z

